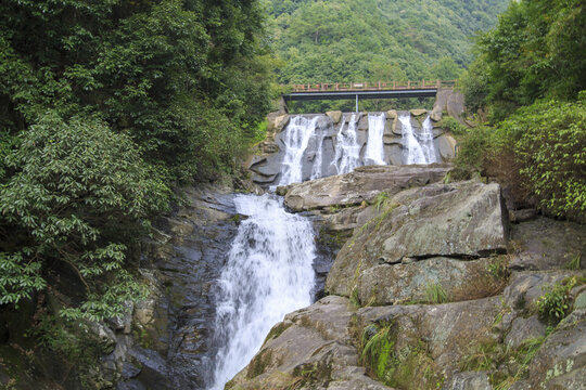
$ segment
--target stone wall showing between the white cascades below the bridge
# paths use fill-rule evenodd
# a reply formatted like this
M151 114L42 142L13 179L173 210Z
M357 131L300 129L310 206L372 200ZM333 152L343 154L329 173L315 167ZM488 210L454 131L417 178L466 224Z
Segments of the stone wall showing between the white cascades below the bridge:
M382 113L370 113L380 115ZM398 120L399 115L411 116L411 127L417 134L421 133L422 123L426 118L425 109L412 109L411 112L388 110L385 113L385 127L383 134L384 162L386 165L404 164L404 141L402 138L403 128ZM304 151L301 151L302 181L317 177L329 177L337 174L334 162L336 153L341 153L337 139L342 129L347 131L348 121L353 117L352 113L328 112L326 114L307 114L304 118L309 119L314 125L305 131L311 132ZM358 113L355 115L356 138L359 147L359 164L364 165L366 145L369 133L369 114ZM252 171L252 179L263 186L277 185L280 182L283 171L283 161L286 153L286 136L290 126L294 126L293 118L284 112L271 113L268 115L267 139L256 146L256 154L246 162ZM455 156L456 142L448 134L444 134L441 128L433 129L434 145L437 156L443 161L448 161ZM301 143L300 143L301 144ZM319 156L319 157L318 157ZM337 157L340 158L340 156Z

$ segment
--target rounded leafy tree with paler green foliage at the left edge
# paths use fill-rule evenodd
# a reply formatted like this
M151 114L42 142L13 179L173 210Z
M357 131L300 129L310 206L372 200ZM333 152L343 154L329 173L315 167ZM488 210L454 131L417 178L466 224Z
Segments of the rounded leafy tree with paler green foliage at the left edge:
M119 313L115 297L138 299L123 270L127 246L145 232L145 218L164 209L168 190L135 143L98 119L65 122L49 113L7 160L15 173L0 188L0 222L13 240L1 246L0 301L17 303L42 288L52 260L86 286L88 318ZM114 284L104 287L106 281Z

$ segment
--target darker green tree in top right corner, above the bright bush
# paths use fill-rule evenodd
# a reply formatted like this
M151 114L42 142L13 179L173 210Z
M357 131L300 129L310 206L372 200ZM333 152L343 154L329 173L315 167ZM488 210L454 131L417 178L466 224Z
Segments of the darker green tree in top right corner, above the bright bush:
M512 1L479 37L463 78L467 104L488 104L494 121L540 98L575 99L586 89L586 10L581 0Z

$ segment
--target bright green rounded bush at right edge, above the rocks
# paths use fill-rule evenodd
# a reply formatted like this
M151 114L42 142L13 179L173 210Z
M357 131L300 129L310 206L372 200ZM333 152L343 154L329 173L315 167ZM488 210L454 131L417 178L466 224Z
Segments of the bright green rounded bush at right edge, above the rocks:
M500 123L515 142L520 173L539 206L586 221L586 93L575 103L538 102Z

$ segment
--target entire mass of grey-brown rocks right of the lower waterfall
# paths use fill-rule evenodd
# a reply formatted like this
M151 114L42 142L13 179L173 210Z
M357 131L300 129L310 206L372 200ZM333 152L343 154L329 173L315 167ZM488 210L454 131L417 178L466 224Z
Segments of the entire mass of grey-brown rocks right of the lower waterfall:
M279 188L336 238L331 295L277 324L227 389L585 389L586 229L447 170Z

